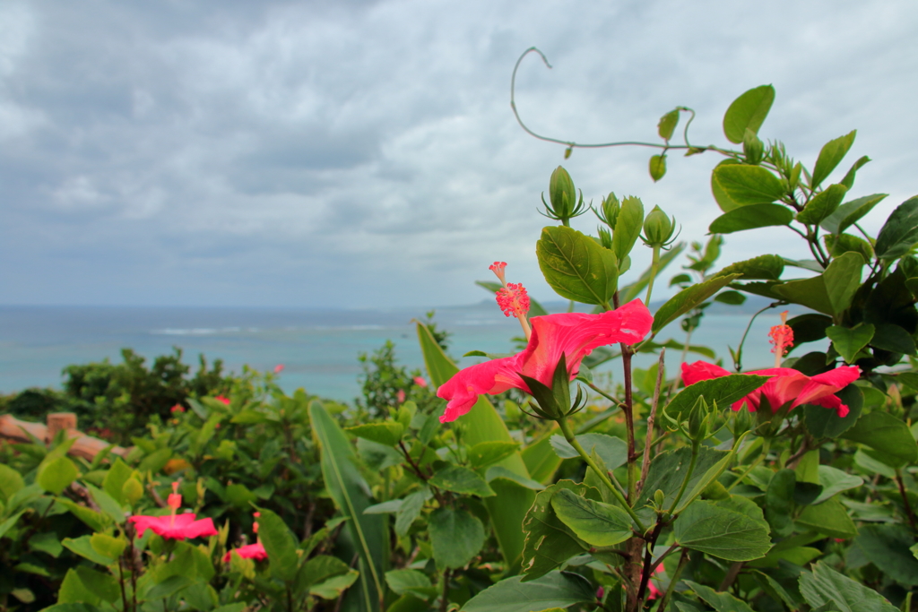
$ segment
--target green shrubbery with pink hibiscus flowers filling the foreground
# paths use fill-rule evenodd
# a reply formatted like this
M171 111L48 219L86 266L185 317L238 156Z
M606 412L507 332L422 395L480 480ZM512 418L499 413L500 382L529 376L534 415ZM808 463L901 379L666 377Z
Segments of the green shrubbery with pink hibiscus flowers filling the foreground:
M758 137L773 99L756 87L727 109L742 150L671 142L688 108L660 120L654 180L668 150L723 157L723 215L660 306L677 220L637 197L587 206L559 167L536 256L569 312L545 312L504 262L482 283L518 319L518 353L460 370L418 322L427 376L380 353L363 410L250 387L154 421L126 460L71 460L62 440L8 453L5 606L60 584L57 612L913 609L918 198L870 237L858 220L885 196L854 197L868 159L826 184L855 133L804 167ZM596 237L571 227L591 208ZM767 226L813 259L716 270L723 235ZM622 285L639 239L651 265ZM690 344L713 301L744 294L806 311L772 328L774 367L744 371L744 338L732 370ZM677 321L685 338L663 339Z

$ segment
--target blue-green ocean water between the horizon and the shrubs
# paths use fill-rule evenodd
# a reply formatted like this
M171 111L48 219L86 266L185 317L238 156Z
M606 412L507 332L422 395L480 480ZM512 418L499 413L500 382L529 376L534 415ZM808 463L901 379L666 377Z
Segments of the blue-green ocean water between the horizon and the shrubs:
M227 370L237 373L243 364L260 371L283 364L278 382L286 392L303 387L310 394L352 402L360 394L358 354L372 353L386 339L395 343L398 362L422 367L412 319L423 318L428 310L0 306L0 393L60 387L67 365L120 362L125 347L149 361L179 347L193 371L202 353L208 362L221 359ZM691 342L711 347L730 367L727 346L737 346L750 317L708 315ZM436 308L434 321L451 332L450 353L456 358L468 351L513 352L511 338L521 335L516 320L504 317L491 301ZM767 331L777 323L774 311L756 319L744 349L746 369L772 362ZM684 340L678 323L657 339L669 338ZM689 361L699 358L689 355ZM480 359L459 362L465 366ZM647 367L654 359L643 356L635 365ZM677 362L678 351L669 351L667 367L676 368Z

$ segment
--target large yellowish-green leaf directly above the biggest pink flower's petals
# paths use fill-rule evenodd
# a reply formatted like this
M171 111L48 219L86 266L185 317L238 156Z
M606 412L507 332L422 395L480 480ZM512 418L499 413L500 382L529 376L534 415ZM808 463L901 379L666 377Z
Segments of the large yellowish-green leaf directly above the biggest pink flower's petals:
M615 254L576 229L543 228L535 245L545 281L562 297L608 305L618 283Z

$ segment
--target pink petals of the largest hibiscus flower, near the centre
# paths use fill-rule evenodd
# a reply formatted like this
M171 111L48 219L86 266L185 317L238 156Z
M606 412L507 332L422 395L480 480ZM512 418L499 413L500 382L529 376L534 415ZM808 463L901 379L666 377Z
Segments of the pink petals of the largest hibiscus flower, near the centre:
M478 395L497 395L511 387L530 393L521 374L551 386L562 355L570 380L574 380L580 362L593 349L618 342L639 342L650 331L654 317L638 299L599 315L565 313L532 317L530 322L532 337L524 351L465 368L442 384L437 396L448 403L441 423L465 415L475 406Z

